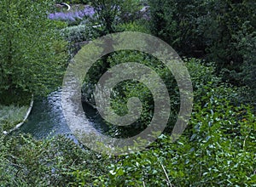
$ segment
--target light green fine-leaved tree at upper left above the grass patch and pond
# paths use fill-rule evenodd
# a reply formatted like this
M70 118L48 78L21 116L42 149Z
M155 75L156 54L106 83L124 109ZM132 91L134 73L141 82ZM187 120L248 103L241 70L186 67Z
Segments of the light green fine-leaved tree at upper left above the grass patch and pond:
M42 95L60 85L66 42L60 22L48 19L52 1L0 3L0 95ZM3 102L3 100L0 100Z

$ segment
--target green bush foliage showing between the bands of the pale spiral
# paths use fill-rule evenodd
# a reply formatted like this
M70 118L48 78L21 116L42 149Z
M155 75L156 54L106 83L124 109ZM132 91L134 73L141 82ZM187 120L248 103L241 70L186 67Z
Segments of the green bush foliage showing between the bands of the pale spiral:
M128 62L137 62L143 65L150 67L154 70L165 82L166 88L169 91L171 96L171 114L169 126L172 127L176 121L177 111L179 109L179 96L177 90L177 82L172 76L172 72L163 65L160 60L155 59L153 56L148 54L143 54L137 51L119 51L111 54L107 60L109 68L114 65L119 65L120 63ZM96 83L99 78L102 76L102 60L98 60L95 63L88 73L88 76L85 77L84 86L82 88L82 95L84 100L89 101L90 104L95 105L93 92L96 87ZM129 73L129 71L124 71L124 73ZM156 83L156 82L155 82ZM113 127L112 133L116 136L131 136L133 133L137 133L138 130L142 130L150 124L152 116L154 114L154 99L153 95L150 93L149 89L143 85L143 83L126 81L120 82L114 89L112 93L112 107L113 110L123 116L127 113L127 102L131 97L137 97L143 103L143 112L140 119L134 123L131 127L115 127L111 124L110 127ZM137 129L136 131L132 129Z

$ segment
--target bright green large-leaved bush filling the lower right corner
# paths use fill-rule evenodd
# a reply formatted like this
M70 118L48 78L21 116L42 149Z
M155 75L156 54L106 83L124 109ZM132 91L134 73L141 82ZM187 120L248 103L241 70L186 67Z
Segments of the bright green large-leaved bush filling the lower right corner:
M176 143L162 135L148 150L120 156L109 167L105 184L253 186L256 118L250 107L231 105L226 89L201 96L189 128Z

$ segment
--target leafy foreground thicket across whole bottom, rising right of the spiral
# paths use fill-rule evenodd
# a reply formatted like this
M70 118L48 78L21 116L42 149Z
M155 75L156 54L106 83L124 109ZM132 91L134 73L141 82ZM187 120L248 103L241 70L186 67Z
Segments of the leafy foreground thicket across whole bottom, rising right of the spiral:
M256 118L252 108L240 103L240 88L220 82L212 65L201 65L198 59L185 61L194 83L195 106L177 142L172 143L165 133L142 152L104 156L65 137L40 141L2 137L0 184L253 186ZM130 89L129 93L141 91Z

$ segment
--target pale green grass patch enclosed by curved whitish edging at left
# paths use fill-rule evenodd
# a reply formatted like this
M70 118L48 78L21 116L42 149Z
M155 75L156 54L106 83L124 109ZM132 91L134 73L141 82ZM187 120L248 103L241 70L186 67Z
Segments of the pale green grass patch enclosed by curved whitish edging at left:
M23 121L29 106L17 105L0 105L0 129L1 131L9 131L18 123Z

